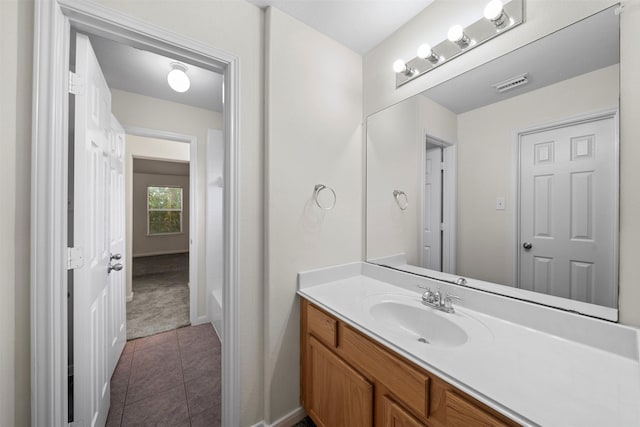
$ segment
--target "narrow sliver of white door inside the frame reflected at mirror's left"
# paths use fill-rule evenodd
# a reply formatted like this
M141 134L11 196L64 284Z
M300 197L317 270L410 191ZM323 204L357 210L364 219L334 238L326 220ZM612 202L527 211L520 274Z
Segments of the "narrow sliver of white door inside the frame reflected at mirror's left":
M422 266L442 271L442 147L426 144Z

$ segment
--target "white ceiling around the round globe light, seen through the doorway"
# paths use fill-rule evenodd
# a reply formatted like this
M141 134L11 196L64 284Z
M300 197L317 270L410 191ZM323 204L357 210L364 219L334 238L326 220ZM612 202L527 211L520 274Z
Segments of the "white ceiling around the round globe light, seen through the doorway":
M111 89L222 112L222 75L186 64L191 88L173 91L167 74L174 59L90 35L91 45Z

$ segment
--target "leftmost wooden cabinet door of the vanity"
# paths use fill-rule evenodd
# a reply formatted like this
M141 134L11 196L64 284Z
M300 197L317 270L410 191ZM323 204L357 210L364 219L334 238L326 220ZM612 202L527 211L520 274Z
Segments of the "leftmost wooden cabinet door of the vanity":
M307 412L318 427L372 427L373 385L309 336Z

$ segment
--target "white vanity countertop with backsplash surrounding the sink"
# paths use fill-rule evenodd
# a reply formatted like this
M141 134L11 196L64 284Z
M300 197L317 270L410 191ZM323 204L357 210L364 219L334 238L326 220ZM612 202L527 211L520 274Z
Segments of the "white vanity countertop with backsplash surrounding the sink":
M380 280L389 275L394 276L395 284ZM397 281L411 283L398 285ZM442 315L475 319L474 324L485 327L484 339L474 339L475 334L471 333L469 341L459 347L399 340L371 317L367 300L393 294L409 302L415 299L416 306L424 307L420 303L422 291L416 283L434 288L437 282L356 263L301 273L298 293L523 425L640 426L637 329L586 317L581 320L581 316L571 313L460 289L458 293L464 294L465 301L454 303L456 313ZM451 289L453 293L457 288ZM513 318L497 317L491 309L491 314L481 312L477 301L471 301L473 298L493 298L502 305L512 305L516 316L520 310L523 318L531 317L532 310L538 310L540 316L548 312L555 323L561 323L554 326L559 331L563 325L583 322L594 334L603 335L605 344L598 348L584 340L571 339L571 331L552 334L543 332L545 328L531 327L530 321L520 324ZM476 309L466 308L467 301ZM567 317L566 322L562 316ZM613 342L609 347L612 336L629 342ZM598 342L598 337L594 340ZM615 351L608 351L610 348ZM618 351L619 348L626 350Z

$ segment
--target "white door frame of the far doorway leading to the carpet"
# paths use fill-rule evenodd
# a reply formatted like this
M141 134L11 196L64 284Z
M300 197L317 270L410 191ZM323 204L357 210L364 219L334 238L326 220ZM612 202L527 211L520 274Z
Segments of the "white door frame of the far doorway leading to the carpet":
M206 323L207 315L198 317L198 301L199 293L198 287L200 282L198 280L198 256L200 251L198 250L198 138L192 135L184 135L175 132L168 132L158 129L148 129L138 126L125 126L124 131L126 135L143 136L146 138L164 139L173 142L179 142L189 144L189 321L192 325L199 325ZM129 159L125 159L125 167ZM130 163L131 168L126 168L125 174L131 175L131 182L133 183L133 161ZM126 176L126 175L125 175ZM129 189L132 191L132 189ZM131 193L133 194L133 193ZM127 244L129 242L127 241ZM131 253L127 254L130 263L133 263L133 248ZM133 269L129 269L127 272L127 281L130 280L133 274ZM128 295L127 295L128 297Z

